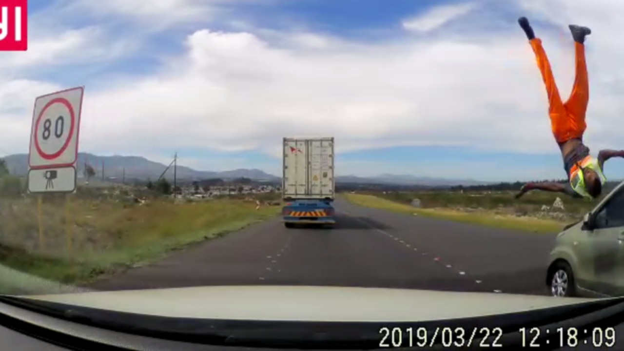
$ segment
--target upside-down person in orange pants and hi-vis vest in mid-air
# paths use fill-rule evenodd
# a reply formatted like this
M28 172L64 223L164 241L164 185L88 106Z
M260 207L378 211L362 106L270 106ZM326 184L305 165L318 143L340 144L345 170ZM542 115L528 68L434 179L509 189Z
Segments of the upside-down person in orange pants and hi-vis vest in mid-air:
M602 150L598 158L590 156L589 148L583 144L585 111L589 101L589 82L587 78L587 64L585 63L585 37L591 34L588 27L570 24L570 32L575 43L576 77L572 87L572 94L568 101L562 102L550 69L548 57L542 47L542 41L535 37L533 28L526 17L518 19L520 27L527 34L529 44L535 52L537 66L542 72L542 78L548 94L548 114L553 136L563 156L563 167L568 175L568 183L555 182L527 183L515 195L518 199L530 190L544 190L563 192L572 197L597 198L602 192L602 185L607 181L602 172L603 164L611 157L624 157L624 151Z

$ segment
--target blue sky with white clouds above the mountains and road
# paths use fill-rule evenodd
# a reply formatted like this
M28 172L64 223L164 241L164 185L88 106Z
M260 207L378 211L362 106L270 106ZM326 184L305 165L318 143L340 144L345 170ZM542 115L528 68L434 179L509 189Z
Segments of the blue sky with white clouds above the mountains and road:
M28 151L34 99L84 86L80 151L206 171L281 171L283 137L336 140L336 173L565 177L517 18L563 99L567 25L588 37L585 142L624 149L621 0L30 0L0 52L0 154ZM624 160L607 177L622 179Z

